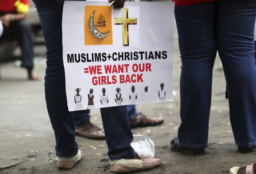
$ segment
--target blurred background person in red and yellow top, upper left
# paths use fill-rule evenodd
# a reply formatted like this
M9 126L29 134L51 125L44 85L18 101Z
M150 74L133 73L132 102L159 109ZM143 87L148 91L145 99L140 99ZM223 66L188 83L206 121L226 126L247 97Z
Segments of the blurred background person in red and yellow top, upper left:
M34 45L32 41L32 31L26 21L29 11L29 0L5 0L0 1L0 20L3 23L3 36L5 38L15 38L22 51L21 67L27 69L29 80L38 80L33 75L34 69Z

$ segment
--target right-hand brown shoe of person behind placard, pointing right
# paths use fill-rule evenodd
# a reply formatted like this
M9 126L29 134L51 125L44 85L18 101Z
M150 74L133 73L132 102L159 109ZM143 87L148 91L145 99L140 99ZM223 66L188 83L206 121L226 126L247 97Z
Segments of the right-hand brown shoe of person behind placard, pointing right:
M155 126L160 125L164 122L163 118L148 118L146 115L139 113L137 117L132 119L130 123L130 127L146 127L146 126Z

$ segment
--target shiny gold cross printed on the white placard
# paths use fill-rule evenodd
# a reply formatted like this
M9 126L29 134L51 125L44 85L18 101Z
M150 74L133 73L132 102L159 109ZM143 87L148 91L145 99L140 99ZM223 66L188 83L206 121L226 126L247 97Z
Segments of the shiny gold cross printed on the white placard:
M123 32L123 46L129 46L129 32L128 32L128 25L129 24L137 24L137 18L128 18L128 9L122 9L122 18L114 18L114 24L122 25L122 32Z

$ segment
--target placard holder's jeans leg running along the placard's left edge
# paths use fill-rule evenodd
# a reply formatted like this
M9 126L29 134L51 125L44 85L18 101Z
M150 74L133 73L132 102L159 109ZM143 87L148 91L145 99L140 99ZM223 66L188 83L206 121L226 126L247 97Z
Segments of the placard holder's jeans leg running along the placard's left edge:
M55 1L35 1L47 47L45 77L46 103L49 118L55 132L56 155L77 154L75 126L72 112L68 111L65 95L65 75L62 58L62 7Z

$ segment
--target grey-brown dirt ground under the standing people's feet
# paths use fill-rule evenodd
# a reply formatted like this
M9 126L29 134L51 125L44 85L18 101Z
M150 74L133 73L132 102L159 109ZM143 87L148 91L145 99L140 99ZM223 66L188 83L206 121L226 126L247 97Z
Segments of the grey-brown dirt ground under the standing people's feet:
M55 139L44 100L44 46L36 47L36 73L41 81L26 81L26 71L18 63L1 65L0 81L0 173L109 173L104 140L77 137L83 151L82 161L70 171L55 165ZM208 148L205 155L183 155L170 151L170 140L177 135L179 117L180 59L177 35L174 42L174 102L138 105L150 117L163 117L164 124L133 129L155 142L156 157L164 163L141 173L229 173L229 168L256 161L256 152L238 154L225 100L225 80L220 58L214 65L212 107ZM42 56L43 55L43 56ZM92 122L102 127L100 111L92 110Z

